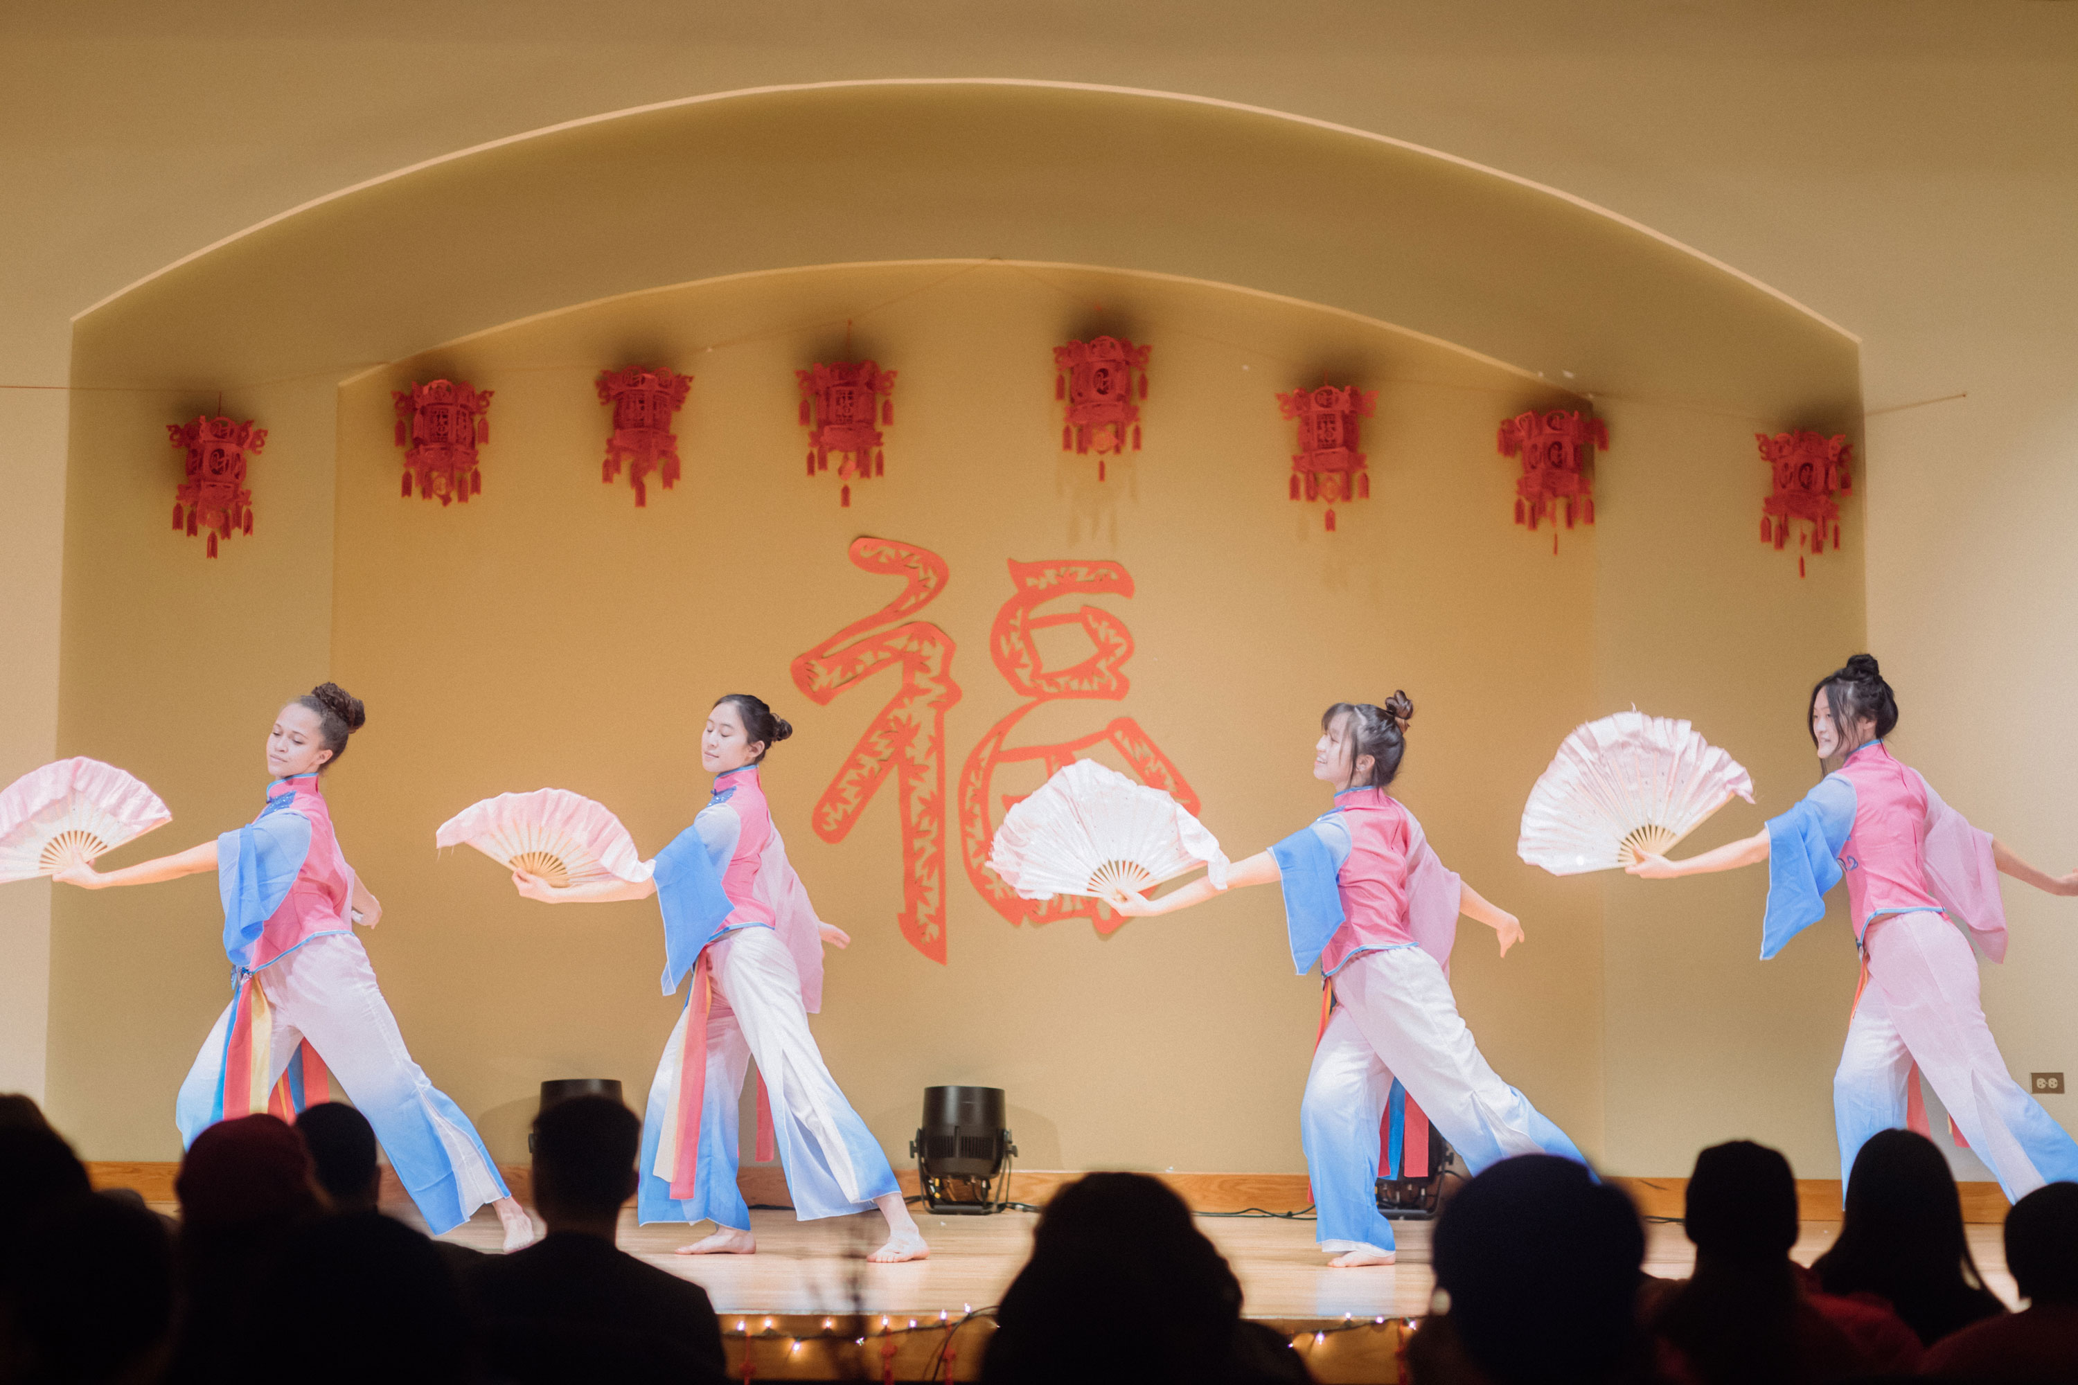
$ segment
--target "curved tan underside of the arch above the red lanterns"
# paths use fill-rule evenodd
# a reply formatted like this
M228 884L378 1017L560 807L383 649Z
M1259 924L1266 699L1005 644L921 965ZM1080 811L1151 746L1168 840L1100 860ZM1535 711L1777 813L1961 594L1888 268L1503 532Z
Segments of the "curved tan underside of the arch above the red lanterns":
M1039 260L1324 303L1552 384L1843 426L1856 343L1579 199L1278 112L1010 81L831 83L434 160L75 324L75 384L347 376L615 293L867 260Z

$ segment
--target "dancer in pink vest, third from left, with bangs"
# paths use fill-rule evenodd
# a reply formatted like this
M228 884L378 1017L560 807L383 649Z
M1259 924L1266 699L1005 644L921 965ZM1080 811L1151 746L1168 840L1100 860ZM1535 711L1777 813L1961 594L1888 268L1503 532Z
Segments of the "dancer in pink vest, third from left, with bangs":
M1378 1211L1378 1125L1394 1080L1473 1173L1511 1155L1581 1159L1494 1076L1457 1013L1444 976L1457 916L1490 926L1502 957L1523 941L1523 926L1444 870L1421 824L1386 793L1413 714L1405 691L1386 706L1330 706L1313 745L1313 779L1334 785L1334 810L1226 874L1228 889L1282 882L1293 963L1305 976L1320 961L1328 990L1299 1130L1320 1209L1315 1238L1322 1250L1338 1252L1328 1260L1336 1269L1392 1265L1392 1223ZM1108 903L1153 916L1218 893L1199 878L1160 899L1116 893Z

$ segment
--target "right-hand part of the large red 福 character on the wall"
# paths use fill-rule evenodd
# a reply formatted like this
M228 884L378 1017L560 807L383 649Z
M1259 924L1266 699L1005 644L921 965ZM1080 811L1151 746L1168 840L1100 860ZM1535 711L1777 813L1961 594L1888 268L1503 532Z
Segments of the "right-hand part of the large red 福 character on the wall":
M997 826L997 816L991 814L989 804L995 770L1006 764L1037 764L1041 779L1045 779L1081 752L1110 743L1141 783L1168 789L1191 812L1197 812L1197 793L1193 793L1182 772L1147 739L1147 733L1130 716L1118 716L1103 731L1074 741L1004 750L1004 741L1010 739L1010 733L1018 729L1018 723L1033 708L1072 698L1101 702L1124 698L1130 687L1124 664L1133 658L1133 633L1108 610L1081 606L1064 615L1035 615L1037 606L1076 592L1133 596L1133 575L1118 563L1078 559L1012 563L1010 581L1016 583L1018 592L995 613L995 625L989 629L989 658L995 660L995 669L1010 685L1031 698L1031 702L989 727L989 733L981 737L981 743L966 756L966 766L960 770L960 856L966 864L966 878L975 882L975 889L989 901L989 907L1012 924L1051 924L1062 918L1087 918L1095 924L1099 936L1110 934L1124 920L1095 899L1020 899L1002 876L985 870L989 843L995 839ZM1083 662L1054 671L1045 667L1039 654L1037 633L1060 625L1081 625L1093 650ZM1022 795L1002 797L1000 808L1008 810L1018 797Z

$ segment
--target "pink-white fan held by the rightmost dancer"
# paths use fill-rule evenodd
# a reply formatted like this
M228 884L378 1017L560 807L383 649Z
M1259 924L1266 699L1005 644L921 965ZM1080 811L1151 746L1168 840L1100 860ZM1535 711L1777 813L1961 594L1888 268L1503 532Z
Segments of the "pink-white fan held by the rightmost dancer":
M1664 856L1754 781L1696 727L1629 710L1590 721L1529 789L1515 853L1558 876Z

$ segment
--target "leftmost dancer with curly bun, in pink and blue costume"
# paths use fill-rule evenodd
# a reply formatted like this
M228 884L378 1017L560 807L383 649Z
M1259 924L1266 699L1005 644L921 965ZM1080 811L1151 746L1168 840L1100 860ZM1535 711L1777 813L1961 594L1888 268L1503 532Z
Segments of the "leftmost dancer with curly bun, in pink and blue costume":
M351 924L374 928L382 905L339 849L320 775L364 721L359 698L320 683L274 718L266 737L272 783L247 826L179 856L106 874L75 866L56 878L108 889L216 872L233 995L175 1103L183 1146L227 1117L272 1111L295 1119L305 1105L326 1101L330 1069L374 1125L434 1235L490 1202L505 1248L517 1250L534 1240L534 1225L470 1117L411 1061L353 936Z

